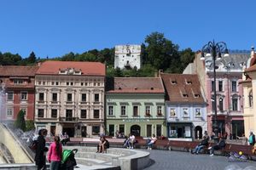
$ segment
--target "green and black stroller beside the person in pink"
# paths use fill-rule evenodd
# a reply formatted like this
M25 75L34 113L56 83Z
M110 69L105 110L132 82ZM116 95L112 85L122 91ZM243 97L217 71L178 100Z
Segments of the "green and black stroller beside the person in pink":
M78 152L78 149L63 150L61 160L61 170L73 170L73 167L77 165L77 161L74 156Z

